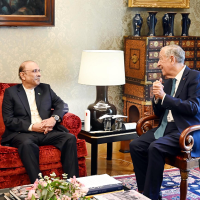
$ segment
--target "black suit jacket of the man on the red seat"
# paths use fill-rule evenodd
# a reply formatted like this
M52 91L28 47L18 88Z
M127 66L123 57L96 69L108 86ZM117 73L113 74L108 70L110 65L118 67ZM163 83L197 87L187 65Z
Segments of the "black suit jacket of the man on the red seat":
M42 119L47 119L51 115L58 115L62 119L64 114L68 112L68 105L54 93L48 84L40 83L35 88L35 99ZM52 108L54 109L53 111ZM6 126L2 136L2 143L9 142L16 134L20 134L21 132L31 133L28 131L31 125L31 111L22 84L5 90L2 114ZM68 132L59 123L56 124L54 129Z

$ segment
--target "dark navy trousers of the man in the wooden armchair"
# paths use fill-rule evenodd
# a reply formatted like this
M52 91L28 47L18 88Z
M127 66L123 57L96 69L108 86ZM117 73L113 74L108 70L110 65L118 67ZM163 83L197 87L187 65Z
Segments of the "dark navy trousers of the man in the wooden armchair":
M164 136L157 140L154 137L156 129L147 131L130 143L138 190L153 200L159 197L165 157L177 155L180 151L180 133L175 123L168 123Z

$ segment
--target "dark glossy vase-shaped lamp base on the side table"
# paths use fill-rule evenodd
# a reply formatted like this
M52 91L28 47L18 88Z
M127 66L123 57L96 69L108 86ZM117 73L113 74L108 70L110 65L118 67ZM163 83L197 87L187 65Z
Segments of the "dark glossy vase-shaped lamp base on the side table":
M116 115L117 110L113 104L108 102L107 98L107 86L96 86L97 99L93 104L88 106L90 110L90 124L92 131L104 130L104 120L99 117L107 115ZM111 126L114 124L114 119L111 120Z

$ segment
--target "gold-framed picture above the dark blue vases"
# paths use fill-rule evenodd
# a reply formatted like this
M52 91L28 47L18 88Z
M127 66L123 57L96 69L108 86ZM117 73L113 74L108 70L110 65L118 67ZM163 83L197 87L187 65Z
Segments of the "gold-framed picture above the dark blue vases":
M189 8L190 0L128 0L128 7Z

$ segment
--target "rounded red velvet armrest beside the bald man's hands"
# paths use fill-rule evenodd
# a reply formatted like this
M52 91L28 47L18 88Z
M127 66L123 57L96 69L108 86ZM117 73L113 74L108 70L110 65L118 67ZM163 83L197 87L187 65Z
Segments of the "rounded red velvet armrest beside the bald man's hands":
M81 131L82 123L81 119L72 113L66 113L63 117L61 124L69 130L70 133L78 137Z

